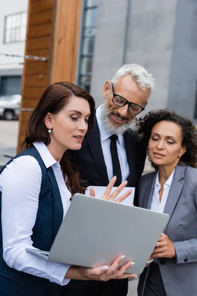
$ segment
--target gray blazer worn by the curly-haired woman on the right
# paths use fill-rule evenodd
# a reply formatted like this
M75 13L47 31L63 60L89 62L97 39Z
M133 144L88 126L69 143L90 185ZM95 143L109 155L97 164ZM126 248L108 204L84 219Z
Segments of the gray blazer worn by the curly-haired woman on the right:
M150 209L157 172L141 177L139 207ZM197 296L197 169L177 165L164 213L170 219L164 233L174 243L177 258L159 259L167 296ZM138 296L143 296L149 267L140 275Z

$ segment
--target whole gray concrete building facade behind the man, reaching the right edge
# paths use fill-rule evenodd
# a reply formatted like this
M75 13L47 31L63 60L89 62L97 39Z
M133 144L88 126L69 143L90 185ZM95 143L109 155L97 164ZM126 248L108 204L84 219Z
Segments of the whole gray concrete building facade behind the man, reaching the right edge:
M146 111L170 108L197 121L197 1L96 2L88 87L97 106L105 80L123 64L136 63L156 79Z

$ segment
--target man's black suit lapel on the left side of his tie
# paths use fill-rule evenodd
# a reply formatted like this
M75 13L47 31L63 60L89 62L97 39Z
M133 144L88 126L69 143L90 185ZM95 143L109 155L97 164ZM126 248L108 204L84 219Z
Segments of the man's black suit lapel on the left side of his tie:
M98 127L97 120L95 120L94 131L90 137L87 137L87 141L88 141L88 145L89 145L90 151L92 153L93 159L95 161L95 164L98 168L100 177L101 177L104 185L107 186L109 183L109 179L108 179L108 175L107 175L107 168L106 168L106 165L104 162L104 156L102 153L99 127Z

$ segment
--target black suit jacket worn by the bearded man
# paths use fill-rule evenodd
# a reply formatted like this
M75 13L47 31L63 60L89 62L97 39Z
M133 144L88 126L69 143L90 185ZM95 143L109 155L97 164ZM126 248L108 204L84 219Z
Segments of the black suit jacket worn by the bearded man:
M127 186L137 188L144 169L146 148L141 145L137 133L131 129L124 134L124 141L130 168ZM107 186L109 184L97 120L95 120L93 132L83 140L82 148L73 151L73 162L79 169L84 187L90 185ZM135 193L134 204L138 205L137 190Z

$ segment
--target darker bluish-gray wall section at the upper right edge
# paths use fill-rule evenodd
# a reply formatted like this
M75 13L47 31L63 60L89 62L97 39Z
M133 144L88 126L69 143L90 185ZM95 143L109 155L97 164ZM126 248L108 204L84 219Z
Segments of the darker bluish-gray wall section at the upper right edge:
M197 85L197 1L179 0L167 107L194 118Z

